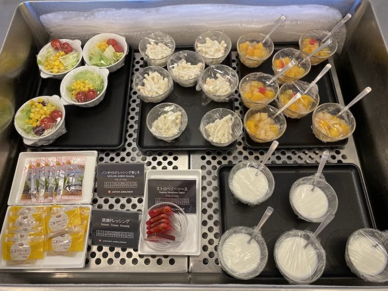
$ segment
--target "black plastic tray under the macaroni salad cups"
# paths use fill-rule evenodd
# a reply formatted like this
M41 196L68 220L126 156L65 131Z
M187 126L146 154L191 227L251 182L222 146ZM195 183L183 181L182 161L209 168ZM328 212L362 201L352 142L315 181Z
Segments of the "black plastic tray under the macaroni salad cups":
M193 48L177 48L176 51ZM230 53L226 57L223 65L231 66ZM146 64L145 64L146 66ZM187 127L183 133L171 143L167 143L160 139L157 139L147 129L146 118L148 112L156 105L165 102L176 103L186 111L187 113ZM147 103L140 100L139 108L139 130L137 131L137 146L139 149L145 150L207 150L207 149L231 149L237 142L233 142L225 147L213 146L206 139L203 138L199 131L199 125L201 124L202 117L210 110L215 108L226 108L234 111L234 101L231 99L228 102L215 102L211 101L206 106L202 105L202 92L195 90L193 87L182 87L174 82L174 89L170 96L159 103Z

